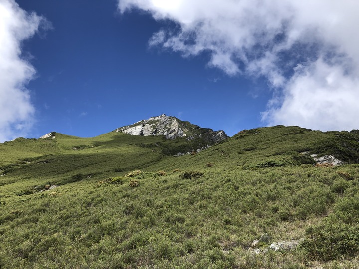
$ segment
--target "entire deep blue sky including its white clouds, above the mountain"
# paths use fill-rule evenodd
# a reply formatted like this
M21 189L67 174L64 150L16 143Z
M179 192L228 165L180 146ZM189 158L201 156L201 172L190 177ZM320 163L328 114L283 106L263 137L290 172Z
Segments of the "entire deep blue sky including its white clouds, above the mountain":
M359 6L303 2L0 0L0 141L163 113L229 135L359 129Z

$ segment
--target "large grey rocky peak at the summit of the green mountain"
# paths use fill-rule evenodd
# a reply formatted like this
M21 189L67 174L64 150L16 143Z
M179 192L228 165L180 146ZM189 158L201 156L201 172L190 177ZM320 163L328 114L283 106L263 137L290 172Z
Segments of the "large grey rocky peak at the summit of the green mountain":
M208 128L200 128L197 125L180 121L175 117L167 116L165 114L151 117L148 120L142 120L132 125L120 127L116 129L115 132L142 136L164 135L166 139L188 136L188 141L201 138L208 145L218 143L228 138L224 131L213 131Z

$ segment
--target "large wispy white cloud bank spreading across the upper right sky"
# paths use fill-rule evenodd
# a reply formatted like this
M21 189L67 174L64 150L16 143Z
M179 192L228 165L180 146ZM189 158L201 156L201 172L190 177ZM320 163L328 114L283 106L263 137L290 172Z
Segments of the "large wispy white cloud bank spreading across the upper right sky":
M230 76L264 77L273 91L261 116L268 125L359 129L359 1L119 0L178 27L152 46L195 56Z

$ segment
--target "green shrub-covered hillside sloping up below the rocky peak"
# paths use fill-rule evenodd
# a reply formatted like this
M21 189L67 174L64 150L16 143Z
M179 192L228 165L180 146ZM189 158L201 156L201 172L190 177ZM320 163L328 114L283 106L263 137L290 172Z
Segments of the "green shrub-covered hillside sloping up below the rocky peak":
M0 268L358 268L358 133L258 128L181 157L184 137L5 142Z

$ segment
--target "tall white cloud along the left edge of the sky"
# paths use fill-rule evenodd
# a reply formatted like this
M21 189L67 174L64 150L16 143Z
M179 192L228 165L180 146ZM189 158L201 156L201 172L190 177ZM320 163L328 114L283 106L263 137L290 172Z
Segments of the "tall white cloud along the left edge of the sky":
M25 85L35 69L21 56L21 42L43 21L14 0L0 0L0 142L25 135L33 123L35 109Z

